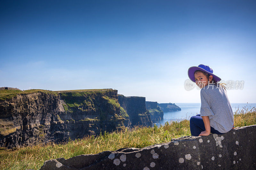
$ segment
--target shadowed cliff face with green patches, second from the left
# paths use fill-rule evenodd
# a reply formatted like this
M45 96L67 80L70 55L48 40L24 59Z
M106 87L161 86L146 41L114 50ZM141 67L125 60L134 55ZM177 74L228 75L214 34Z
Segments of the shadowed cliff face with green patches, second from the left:
M117 90L59 94L64 109L59 116L65 122L55 138L81 138L128 126L129 115L118 103Z

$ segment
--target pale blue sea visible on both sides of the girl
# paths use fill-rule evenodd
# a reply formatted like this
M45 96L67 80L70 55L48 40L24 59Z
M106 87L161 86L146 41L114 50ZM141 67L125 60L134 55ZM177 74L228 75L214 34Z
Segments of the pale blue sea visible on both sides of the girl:
M230 103L232 106L233 113L241 113L247 109L256 108L256 103ZM159 127L160 124L164 125L165 122L178 121L187 119L189 120L191 116L199 114L201 103L175 103L175 105L181 108L181 111L171 111L164 112L164 119L156 122L156 125ZM254 108L253 108L254 107Z

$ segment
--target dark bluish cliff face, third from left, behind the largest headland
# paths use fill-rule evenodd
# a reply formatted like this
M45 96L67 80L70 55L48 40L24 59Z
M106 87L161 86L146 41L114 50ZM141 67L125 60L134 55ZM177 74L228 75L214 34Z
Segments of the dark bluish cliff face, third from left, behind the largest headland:
M124 108L130 118L130 124L152 126L149 111L146 109L145 97L130 96L118 94L118 102Z

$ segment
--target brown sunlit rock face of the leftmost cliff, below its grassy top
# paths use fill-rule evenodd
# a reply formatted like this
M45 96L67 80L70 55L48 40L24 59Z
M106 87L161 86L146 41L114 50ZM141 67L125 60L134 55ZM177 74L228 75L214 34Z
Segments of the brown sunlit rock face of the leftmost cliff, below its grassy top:
M44 141L59 112L58 105L57 94L44 92L0 100L0 145L12 148Z

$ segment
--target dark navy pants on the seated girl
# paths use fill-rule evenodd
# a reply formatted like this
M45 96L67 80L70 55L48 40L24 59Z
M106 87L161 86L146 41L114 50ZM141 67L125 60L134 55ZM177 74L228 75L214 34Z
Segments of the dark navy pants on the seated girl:
M202 131L205 131L204 121L203 121L203 118L200 117L200 114L197 114L196 116L192 116L189 122L190 122L191 136L198 137ZM218 130L215 130L213 127L211 127L211 133L216 133L218 135L224 134L224 133L220 133Z

